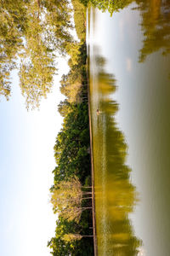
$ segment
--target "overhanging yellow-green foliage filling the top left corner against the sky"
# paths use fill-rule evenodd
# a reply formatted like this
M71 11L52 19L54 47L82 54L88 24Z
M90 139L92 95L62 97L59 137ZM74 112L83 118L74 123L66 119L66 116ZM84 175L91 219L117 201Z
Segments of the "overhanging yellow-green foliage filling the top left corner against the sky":
M68 0L0 0L0 95L10 96L10 73L20 59L20 87L26 108L47 97L56 73L55 53L65 54L73 39Z

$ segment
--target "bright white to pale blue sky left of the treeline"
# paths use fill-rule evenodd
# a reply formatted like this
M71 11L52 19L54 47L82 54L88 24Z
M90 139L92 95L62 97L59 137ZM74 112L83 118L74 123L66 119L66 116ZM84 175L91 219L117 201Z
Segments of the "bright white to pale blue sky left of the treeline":
M58 60L53 92L39 110L27 112L17 71L12 73L12 96L0 102L0 247L3 256L50 255L56 215L50 205L54 143L62 118L57 105L63 96L59 80L68 72Z

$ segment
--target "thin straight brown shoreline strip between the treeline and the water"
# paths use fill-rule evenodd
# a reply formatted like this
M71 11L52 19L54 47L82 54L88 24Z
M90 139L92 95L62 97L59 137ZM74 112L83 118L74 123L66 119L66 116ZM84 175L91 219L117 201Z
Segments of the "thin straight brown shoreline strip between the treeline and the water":
M95 218L95 201L94 201L94 154L93 154L93 137L92 122L90 108L90 91L89 91L89 70L87 58L87 81L88 81L88 118L89 118L89 134L90 134L90 157L91 157L91 178L92 178L92 212L93 212L93 235L94 235L94 256L98 256L97 235L96 235L96 218Z

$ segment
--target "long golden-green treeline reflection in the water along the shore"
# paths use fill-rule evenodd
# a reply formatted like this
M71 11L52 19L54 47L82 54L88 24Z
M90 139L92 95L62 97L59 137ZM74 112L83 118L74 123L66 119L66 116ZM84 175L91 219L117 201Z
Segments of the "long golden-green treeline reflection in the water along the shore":
M128 215L139 196L129 179L127 144L115 119L118 104L112 98L116 79L105 72L103 57L96 55L94 61L98 70L93 84L94 95L98 94L94 108L99 108L93 122L99 255L137 255L142 241L134 235Z

